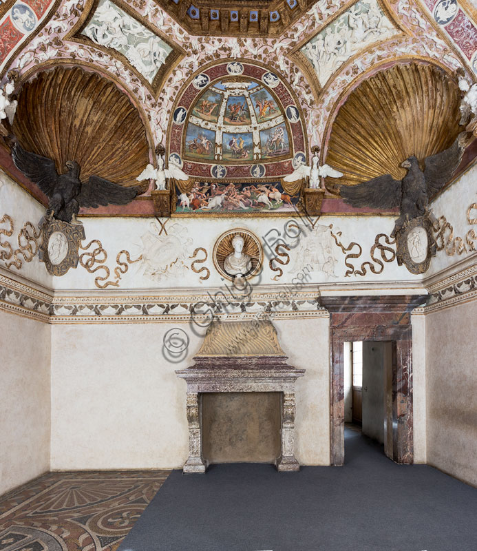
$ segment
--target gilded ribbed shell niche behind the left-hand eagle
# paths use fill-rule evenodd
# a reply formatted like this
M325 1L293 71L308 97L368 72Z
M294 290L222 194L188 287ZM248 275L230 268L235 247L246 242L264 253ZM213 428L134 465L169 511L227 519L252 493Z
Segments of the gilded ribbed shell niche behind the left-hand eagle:
M27 151L54 159L59 174L67 160L120 185L137 185L149 163L149 145L138 111L111 81L81 67L56 67L23 85L13 123Z

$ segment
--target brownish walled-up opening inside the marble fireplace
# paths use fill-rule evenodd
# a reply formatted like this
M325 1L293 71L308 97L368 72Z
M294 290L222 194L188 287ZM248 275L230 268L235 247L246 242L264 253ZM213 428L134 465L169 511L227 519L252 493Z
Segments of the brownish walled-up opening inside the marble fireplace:
M281 395L201 393L204 459L209 464L275 464L281 453Z

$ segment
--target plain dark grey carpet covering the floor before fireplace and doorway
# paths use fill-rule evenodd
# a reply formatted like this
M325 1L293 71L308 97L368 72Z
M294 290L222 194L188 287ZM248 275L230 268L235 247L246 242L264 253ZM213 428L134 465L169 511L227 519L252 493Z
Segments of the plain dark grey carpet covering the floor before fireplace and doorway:
M346 465L180 470L118 551L475 551L477 489L346 430Z

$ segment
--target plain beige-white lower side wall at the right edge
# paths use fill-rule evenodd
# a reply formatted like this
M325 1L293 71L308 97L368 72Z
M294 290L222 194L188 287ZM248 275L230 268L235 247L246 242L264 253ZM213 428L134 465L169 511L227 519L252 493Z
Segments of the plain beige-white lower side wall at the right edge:
M428 313L427 462L477 486L477 300Z

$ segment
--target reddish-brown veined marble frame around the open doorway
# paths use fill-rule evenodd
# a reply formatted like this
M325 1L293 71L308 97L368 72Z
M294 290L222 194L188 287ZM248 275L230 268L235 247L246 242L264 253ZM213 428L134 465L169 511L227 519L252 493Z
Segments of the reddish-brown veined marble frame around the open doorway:
M391 341L392 405L388 423L392 438L386 455L400 464L414 461L412 420L411 311L423 295L322 297L330 312L330 464L344 464L344 343Z

